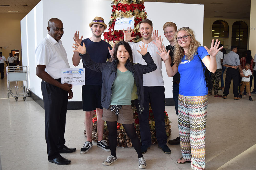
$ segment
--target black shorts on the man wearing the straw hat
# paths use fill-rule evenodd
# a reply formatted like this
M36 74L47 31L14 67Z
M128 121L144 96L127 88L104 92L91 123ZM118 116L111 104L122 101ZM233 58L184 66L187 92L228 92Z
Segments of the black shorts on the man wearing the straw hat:
M82 87L83 111L92 111L101 106L101 86L83 85Z

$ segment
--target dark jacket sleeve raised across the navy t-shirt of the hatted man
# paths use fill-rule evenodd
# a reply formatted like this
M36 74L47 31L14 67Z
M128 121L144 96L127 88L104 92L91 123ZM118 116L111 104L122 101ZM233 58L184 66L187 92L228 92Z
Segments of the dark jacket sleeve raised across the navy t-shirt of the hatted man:
M106 63L96 63L96 62L92 61L89 53L86 52L86 54L84 54L84 55L79 54L79 56L81 57L84 65L87 68L89 68L93 71L97 71L97 72L102 72L102 70L104 69L104 66Z

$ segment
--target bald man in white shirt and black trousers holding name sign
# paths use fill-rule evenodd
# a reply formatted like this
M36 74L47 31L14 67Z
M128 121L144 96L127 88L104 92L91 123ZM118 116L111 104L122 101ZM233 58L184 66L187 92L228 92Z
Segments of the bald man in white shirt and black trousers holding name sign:
M67 165L71 161L60 153L71 153L76 148L65 146L65 125L68 99L73 97L72 84L61 84L61 69L70 68L66 51L60 40L63 35L61 20L48 21L48 34L37 45L36 75L42 79L41 90L45 108L45 138L48 161Z

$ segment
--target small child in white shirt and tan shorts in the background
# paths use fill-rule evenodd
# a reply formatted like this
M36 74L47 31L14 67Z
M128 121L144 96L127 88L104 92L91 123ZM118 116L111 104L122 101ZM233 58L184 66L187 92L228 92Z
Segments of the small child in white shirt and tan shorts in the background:
M242 77L241 86L240 86L240 95L239 97L242 98L242 93L244 86L246 87L246 91L249 93L249 100L252 101L251 92L250 92L250 76L252 75L252 72L250 70L250 64L245 64L245 69L242 70L243 74L240 73L240 76Z

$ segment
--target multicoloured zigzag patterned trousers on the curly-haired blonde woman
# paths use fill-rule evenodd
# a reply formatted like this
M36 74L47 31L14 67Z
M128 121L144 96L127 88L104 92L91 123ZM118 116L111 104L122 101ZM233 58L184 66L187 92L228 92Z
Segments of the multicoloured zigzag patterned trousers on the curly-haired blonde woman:
M183 96L179 94L178 127L183 158L191 161L191 168L205 169L205 127L207 95Z

